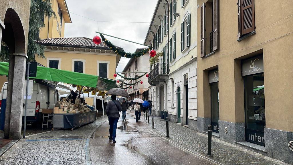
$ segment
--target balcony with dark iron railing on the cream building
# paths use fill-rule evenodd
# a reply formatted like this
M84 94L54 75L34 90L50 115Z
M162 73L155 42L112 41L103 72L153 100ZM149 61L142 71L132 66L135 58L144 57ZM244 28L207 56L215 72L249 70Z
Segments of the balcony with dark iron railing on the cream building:
M154 69L149 73L149 84L158 85L159 82L168 80L169 64L168 63L157 63Z

